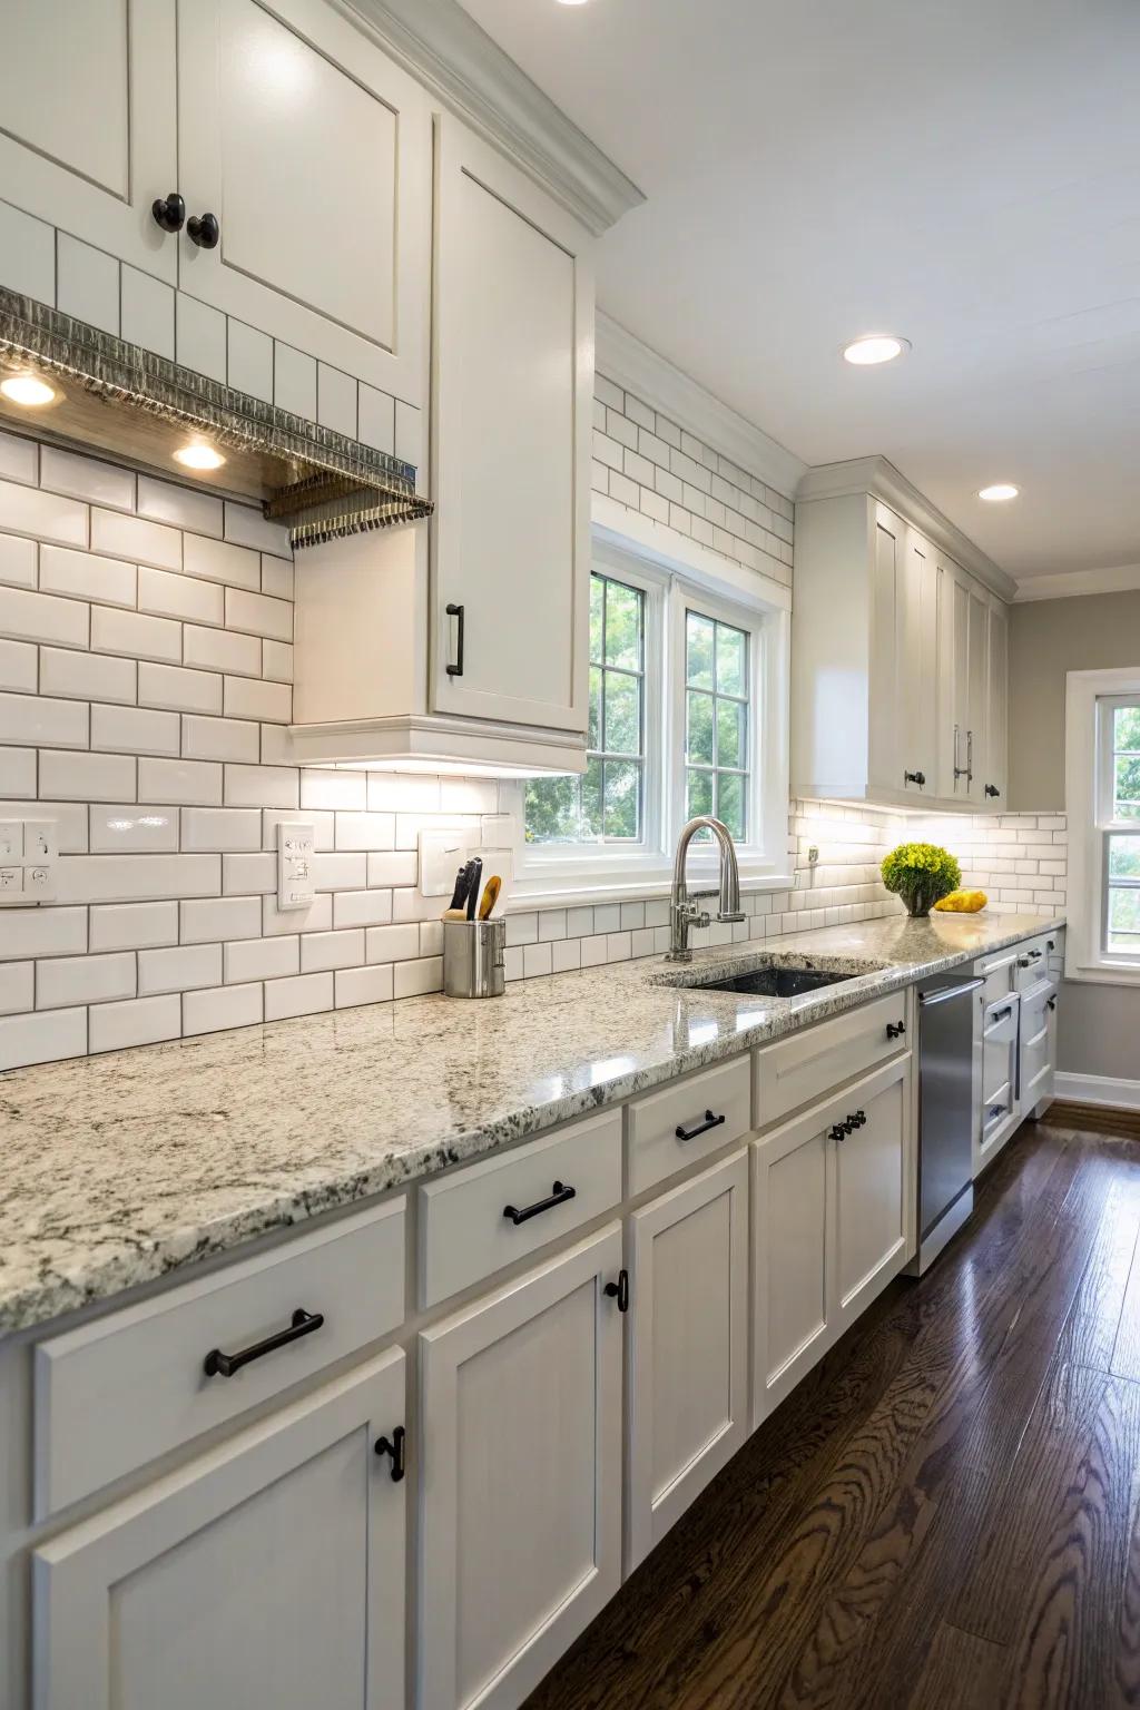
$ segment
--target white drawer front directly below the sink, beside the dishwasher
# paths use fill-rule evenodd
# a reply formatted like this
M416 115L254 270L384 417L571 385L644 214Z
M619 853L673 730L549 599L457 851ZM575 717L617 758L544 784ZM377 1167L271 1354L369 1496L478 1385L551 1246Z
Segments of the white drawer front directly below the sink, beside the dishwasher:
M887 1057L904 1052L908 1004L906 990L892 992L890 997L877 997L873 1004L851 1009L834 1021L820 1021L807 1033L793 1033L757 1052L757 1127L778 1122L832 1086L867 1074ZM904 1029L901 1035L887 1033L887 1028L899 1026Z

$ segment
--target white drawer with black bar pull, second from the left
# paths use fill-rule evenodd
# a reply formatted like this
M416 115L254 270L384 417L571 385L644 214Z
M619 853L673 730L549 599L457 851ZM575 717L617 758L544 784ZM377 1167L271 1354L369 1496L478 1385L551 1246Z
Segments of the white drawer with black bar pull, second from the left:
M494 1276L622 1197L622 1113L487 1158L420 1190L420 1305Z

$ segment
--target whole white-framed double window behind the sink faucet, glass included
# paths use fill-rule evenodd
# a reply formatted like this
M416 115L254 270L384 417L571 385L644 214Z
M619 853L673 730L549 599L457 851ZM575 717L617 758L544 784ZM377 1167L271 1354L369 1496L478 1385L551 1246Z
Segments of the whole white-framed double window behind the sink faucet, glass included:
M706 587L649 551L596 542L586 771L516 787L516 893L665 894L694 814L726 823L745 881L786 882L788 600L740 581ZM697 879L714 867L709 845L692 852Z

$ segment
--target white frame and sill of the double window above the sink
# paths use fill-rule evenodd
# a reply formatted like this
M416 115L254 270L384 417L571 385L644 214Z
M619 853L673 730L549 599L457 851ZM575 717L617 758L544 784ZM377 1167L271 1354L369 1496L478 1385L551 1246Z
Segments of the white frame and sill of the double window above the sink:
M644 518L631 518L641 525ZM643 843L526 843L523 834L525 785L514 787L511 809L520 843L508 908L540 903L622 901L667 896L673 848L684 824L685 669L684 614L694 609L749 633L749 809L747 834L737 845L745 889L788 889L788 679L791 598L767 576L721 559L697 542L661 525L651 540L596 527L591 569L614 576L646 595L644 696L646 758ZM668 648L667 629L668 624ZM663 708L661 739L651 740L655 708ZM692 848L694 884L713 884L716 852Z

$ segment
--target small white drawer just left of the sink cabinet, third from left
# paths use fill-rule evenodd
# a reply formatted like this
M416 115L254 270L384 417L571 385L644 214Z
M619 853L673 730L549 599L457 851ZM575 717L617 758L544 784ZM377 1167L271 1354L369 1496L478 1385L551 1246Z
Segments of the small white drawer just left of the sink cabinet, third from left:
M636 1100L627 1117L631 1195L747 1134L750 1082L749 1058L737 1057Z

